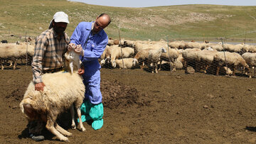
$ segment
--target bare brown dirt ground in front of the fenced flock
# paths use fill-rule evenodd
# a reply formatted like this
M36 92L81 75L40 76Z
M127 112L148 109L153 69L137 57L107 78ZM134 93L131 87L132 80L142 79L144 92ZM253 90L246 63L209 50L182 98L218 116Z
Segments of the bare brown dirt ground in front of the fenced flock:
M35 143L18 107L31 67L18 68L0 70L0 143ZM69 115L61 116L60 126L73 133L70 143L256 143L256 78L183 70L101 72L104 126L94 131L84 123L80 132L70 128ZM63 143L43 134L46 140L38 143Z

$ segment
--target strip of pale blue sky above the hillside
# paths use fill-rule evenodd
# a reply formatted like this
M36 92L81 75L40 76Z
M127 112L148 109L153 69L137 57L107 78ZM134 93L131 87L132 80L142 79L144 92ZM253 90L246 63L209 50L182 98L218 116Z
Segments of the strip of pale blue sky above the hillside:
M171 6L183 4L218 4L230 6L256 6L256 0L69 0L86 4L118 7Z

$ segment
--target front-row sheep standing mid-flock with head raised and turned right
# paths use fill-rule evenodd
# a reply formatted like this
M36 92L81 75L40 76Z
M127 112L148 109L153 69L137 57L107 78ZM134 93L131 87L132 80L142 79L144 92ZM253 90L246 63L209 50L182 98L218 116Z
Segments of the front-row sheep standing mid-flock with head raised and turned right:
M154 69L156 74L158 73L157 63L160 61L160 57L163 52L166 53L166 49L159 48L159 50L149 50L149 61L151 62L152 73L154 73Z

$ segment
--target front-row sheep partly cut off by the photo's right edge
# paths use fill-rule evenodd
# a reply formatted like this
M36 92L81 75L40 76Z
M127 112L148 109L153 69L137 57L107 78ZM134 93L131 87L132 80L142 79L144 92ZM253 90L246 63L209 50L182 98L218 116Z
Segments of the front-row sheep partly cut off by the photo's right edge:
M245 52L244 54L242 54L242 58L244 58L247 65L249 65L250 67L249 78L252 78L252 67L256 67L256 53ZM255 76L255 68L254 68L254 76Z

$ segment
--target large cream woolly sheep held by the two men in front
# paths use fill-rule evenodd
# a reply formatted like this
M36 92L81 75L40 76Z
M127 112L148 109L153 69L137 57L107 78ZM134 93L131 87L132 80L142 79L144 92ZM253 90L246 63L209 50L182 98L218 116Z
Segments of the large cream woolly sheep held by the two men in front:
M58 115L71 108L73 117L72 126L75 128L73 116L73 104L77 109L79 124L78 129L85 131L82 125L80 106L85 97L85 85L82 77L73 70L80 68L79 55L74 50L65 53L65 66L68 72L55 72L42 75L45 87L43 92L35 90L35 85L31 82L23 96L20 107L26 114L28 121L46 122L48 131L57 136L59 140L68 141L64 135L72 135L68 131L58 126L56 119Z

